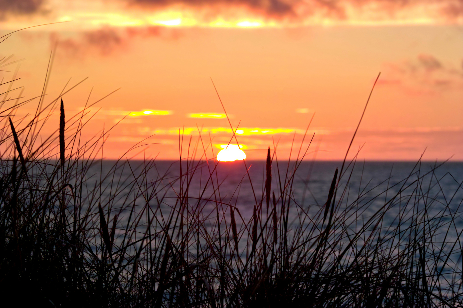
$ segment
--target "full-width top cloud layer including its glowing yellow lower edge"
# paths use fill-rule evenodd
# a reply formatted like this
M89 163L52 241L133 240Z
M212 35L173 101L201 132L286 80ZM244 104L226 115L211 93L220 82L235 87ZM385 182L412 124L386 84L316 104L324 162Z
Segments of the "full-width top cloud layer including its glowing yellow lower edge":
M301 26L463 23L463 0L0 0L0 18L22 15L100 25ZM107 15L105 17L105 14ZM113 18L113 19L112 19ZM163 19L163 20L162 20Z

